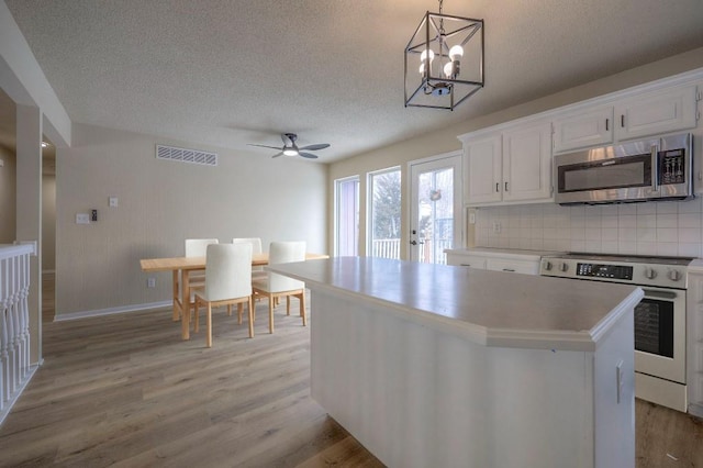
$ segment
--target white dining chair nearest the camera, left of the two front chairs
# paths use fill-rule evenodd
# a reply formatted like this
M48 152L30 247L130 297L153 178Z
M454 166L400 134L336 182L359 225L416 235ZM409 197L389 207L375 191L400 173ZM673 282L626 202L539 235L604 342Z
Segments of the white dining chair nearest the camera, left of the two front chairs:
M211 244L205 256L205 283L194 288L196 324L199 331L200 305L204 304L207 335L205 344L212 347L212 308L237 304L238 323L242 324L242 309L248 304L249 337L254 336L254 303L252 301L252 245Z

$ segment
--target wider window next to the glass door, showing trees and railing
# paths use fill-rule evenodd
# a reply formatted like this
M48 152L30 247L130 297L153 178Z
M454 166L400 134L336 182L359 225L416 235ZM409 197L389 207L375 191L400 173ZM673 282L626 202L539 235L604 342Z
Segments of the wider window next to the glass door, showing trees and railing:
M400 169L369 175L369 248L372 257L400 258Z

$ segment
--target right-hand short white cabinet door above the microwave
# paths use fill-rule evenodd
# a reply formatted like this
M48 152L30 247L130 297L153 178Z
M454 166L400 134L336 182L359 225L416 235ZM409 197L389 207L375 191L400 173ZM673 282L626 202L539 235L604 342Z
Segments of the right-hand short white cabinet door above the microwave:
M695 86L633 97L615 105L615 140L695 127Z

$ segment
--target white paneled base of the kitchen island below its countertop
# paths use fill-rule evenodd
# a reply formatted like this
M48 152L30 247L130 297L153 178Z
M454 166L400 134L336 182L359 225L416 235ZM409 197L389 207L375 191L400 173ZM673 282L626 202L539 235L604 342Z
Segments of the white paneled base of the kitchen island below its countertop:
M596 342L506 347L490 343L489 328L481 343L444 315L435 323L304 268L271 269L295 272L311 290L312 398L387 466L634 468L637 293Z

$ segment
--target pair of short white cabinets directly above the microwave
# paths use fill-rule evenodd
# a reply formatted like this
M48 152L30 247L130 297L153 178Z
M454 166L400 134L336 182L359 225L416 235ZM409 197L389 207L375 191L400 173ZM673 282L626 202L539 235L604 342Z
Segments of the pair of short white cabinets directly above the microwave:
M595 105L595 104L594 104ZM694 129L696 87L641 92L554 118L554 153Z

